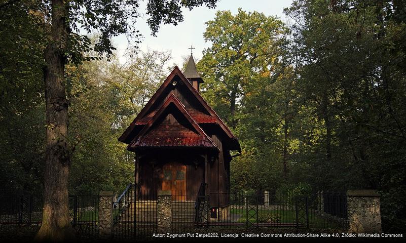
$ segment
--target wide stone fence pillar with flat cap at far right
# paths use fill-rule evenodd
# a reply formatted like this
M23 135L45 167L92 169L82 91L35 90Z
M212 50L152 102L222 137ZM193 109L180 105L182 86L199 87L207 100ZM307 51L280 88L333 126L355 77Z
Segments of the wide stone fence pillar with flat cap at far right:
M381 210L375 190L348 190L347 212L352 233L380 233Z

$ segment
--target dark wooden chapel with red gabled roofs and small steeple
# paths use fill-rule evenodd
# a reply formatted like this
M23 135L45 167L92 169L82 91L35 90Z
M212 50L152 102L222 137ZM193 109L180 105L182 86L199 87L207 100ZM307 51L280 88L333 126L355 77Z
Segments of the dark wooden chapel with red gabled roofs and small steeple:
M184 72L172 70L119 141L135 152L135 183L141 191L196 197L203 186L210 205L221 208L229 204L230 151L241 148L200 96L201 83L191 54Z

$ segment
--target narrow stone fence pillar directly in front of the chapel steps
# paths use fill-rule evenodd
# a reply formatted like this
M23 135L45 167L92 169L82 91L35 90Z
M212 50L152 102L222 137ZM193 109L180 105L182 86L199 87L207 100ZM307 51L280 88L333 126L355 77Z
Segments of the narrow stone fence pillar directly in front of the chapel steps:
M171 191L158 191L158 232L168 233L172 228Z

